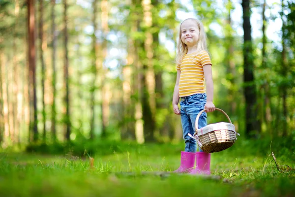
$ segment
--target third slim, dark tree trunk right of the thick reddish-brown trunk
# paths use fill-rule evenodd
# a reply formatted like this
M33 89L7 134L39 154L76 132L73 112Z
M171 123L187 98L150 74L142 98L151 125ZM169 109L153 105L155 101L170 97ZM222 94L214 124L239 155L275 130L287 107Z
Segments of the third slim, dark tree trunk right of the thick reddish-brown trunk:
M67 141L70 140L71 134L71 122L70 122L70 100L69 100L69 74L68 74L68 67L69 67L69 58L68 58L68 33L67 33L67 2L64 2L64 12L63 12L63 22L64 22L64 86L65 86L65 124L66 124L66 132L65 132L65 139Z

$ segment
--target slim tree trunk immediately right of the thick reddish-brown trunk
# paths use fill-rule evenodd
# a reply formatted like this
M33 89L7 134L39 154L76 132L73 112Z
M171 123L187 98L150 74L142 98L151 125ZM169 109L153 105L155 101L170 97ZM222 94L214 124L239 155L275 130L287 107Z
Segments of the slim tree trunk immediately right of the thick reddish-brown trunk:
M43 118L43 142L46 141L46 112L45 112L45 63L43 57L43 0L39 0L39 50L41 62L41 86L42 86L42 118Z

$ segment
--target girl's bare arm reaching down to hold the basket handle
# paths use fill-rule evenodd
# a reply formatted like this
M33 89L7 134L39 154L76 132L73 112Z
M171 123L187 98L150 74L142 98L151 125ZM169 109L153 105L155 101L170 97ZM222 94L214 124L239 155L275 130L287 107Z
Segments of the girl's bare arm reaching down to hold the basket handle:
M213 79L212 79L212 68L211 65L204 65L204 76L206 81L206 94L207 102L205 104L205 109L207 112L212 112L215 110L215 105L213 104Z

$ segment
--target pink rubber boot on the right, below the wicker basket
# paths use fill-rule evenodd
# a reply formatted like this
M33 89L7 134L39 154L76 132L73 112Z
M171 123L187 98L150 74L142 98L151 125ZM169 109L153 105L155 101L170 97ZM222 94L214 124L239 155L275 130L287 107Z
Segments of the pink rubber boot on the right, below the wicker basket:
M210 174L211 154L196 152L196 168L190 174Z

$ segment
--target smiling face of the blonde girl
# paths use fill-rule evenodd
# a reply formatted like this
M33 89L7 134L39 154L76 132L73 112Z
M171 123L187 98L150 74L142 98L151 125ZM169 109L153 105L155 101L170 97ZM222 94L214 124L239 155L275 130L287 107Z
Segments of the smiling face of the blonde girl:
M187 46L195 46L200 38L200 30L196 22L186 20L181 24L181 41Z

